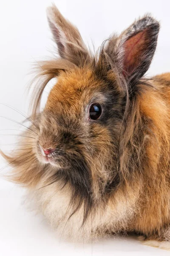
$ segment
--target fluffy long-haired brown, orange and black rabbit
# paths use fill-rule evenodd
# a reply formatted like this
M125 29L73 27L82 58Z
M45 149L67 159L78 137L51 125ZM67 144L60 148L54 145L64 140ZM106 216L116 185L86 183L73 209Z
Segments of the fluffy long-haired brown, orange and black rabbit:
M135 232L170 249L170 73L143 78L159 23L149 15L136 20L93 55L55 6L47 15L60 57L40 63L44 81L24 150L2 153L12 180L62 236Z

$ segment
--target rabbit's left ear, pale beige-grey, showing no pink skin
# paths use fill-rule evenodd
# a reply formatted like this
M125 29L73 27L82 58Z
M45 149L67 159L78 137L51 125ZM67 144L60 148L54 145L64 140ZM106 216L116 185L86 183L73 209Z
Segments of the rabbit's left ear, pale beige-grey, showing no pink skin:
M79 30L61 15L55 5L47 8L47 17L59 55L76 65L83 64L89 53Z

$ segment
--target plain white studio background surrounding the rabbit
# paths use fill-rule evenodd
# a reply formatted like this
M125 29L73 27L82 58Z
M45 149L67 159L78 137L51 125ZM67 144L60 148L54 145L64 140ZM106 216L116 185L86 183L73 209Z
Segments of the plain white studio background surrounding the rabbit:
M158 47L147 75L170 71L169 0L56 0L62 14L78 26L85 43L99 47L112 32L121 32L133 20L147 12L161 21ZM0 2L0 103L22 113L28 111L26 86L32 62L50 55L54 49L45 8L51 0L8 0ZM48 84L42 106L48 96ZM23 120L16 111L0 104L0 116ZM0 147L9 151L19 125L0 117ZM0 159L0 174L6 164ZM6 170L9 167L6 166ZM108 239L89 244L60 241L42 216L23 205L22 188L0 179L0 255L170 255L130 239Z

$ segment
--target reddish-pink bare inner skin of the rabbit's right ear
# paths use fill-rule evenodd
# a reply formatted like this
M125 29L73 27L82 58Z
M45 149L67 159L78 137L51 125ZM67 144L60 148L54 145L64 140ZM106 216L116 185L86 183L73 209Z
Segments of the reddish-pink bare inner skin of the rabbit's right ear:
M124 76L131 75L140 65L143 52L145 51L147 29L130 37L124 44Z

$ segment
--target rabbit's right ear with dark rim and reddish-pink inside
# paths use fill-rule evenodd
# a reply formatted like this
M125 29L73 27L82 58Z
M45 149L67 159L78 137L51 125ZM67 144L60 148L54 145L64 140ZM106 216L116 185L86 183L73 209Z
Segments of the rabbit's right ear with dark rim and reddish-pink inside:
M152 61L159 23L150 16L135 21L118 38L110 38L105 52L122 68L127 81L136 82L146 73Z

